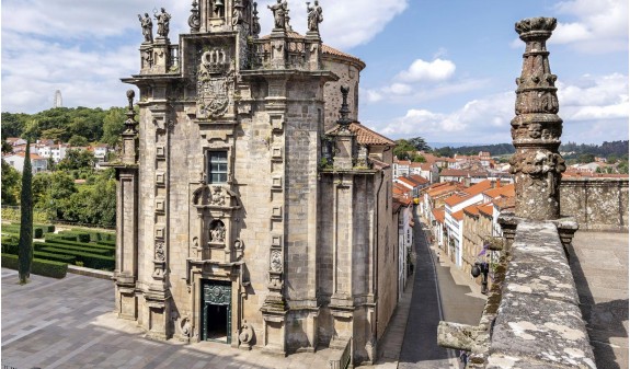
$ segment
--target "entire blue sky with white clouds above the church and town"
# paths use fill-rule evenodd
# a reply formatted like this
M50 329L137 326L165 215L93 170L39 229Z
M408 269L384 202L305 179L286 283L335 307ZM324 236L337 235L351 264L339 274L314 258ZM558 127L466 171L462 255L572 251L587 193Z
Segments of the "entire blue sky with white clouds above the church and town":
M164 7L171 39L192 1L3 0L1 109L36 113L61 90L65 106L122 106L137 73L138 13ZM263 34L271 0L259 1ZM306 30L306 4L288 0ZM391 138L509 142L524 43L514 23L554 16L563 141L628 139L628 0L320 0L325 44L362 58L359 120Z

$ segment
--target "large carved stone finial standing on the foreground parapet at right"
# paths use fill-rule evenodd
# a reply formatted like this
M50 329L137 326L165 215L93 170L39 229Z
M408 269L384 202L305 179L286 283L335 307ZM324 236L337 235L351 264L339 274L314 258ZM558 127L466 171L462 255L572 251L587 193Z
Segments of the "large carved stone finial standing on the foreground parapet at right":
M564 160L558 152L562 134L554 83L546 42L555 27L553 18L517 22L516 32L526 44L523 71L516 79L516 116L512 139L516 153L511 172L516 185L516 216L532 220L560 217L559 185Z

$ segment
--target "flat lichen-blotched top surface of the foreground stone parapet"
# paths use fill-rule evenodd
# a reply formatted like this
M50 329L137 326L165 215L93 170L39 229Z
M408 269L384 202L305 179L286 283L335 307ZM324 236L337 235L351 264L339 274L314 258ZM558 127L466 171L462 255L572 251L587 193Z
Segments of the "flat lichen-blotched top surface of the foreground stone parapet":
M595 368L562 243L552 223L518 224L491 337L489 368Z

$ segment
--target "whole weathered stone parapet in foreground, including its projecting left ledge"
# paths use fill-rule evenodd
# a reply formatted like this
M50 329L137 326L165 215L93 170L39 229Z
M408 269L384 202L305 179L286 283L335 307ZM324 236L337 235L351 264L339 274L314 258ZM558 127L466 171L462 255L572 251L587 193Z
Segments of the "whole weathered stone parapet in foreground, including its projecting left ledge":
M520 220L512 237L480 324L440 322L438 344L471 351L469 369L595 368L557 224Z

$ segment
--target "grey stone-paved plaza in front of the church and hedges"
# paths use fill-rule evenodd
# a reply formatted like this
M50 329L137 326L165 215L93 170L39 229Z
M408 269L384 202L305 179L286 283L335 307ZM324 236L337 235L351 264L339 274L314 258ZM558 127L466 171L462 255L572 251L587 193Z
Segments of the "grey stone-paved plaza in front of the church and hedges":
M142 337L118 320L111 280L68 275L64 279L1 269L2 365L16 369L64 368L328 368L331 349L287 358L243 351L219 343L183 345Z

